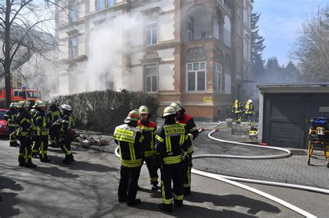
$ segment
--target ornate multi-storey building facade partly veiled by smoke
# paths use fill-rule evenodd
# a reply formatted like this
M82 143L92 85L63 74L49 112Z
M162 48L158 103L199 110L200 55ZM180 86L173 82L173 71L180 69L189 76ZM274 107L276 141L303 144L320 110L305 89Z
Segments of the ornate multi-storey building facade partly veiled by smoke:
M251 0L58 4L67 6L56 13L58 94L144 91L160 110L177 101L208 119L230 117L234 100L248 98Z

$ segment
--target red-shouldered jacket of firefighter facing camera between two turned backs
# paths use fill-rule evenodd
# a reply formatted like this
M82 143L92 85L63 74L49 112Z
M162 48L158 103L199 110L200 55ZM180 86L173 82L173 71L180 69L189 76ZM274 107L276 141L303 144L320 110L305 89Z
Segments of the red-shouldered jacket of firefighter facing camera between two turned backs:
M144 157L153 156L155 135L158 129L154 122L149 121L147 125L142 125L141 120L138 120L137 128L140 129L144 140L142 142L142 149L144 151Z

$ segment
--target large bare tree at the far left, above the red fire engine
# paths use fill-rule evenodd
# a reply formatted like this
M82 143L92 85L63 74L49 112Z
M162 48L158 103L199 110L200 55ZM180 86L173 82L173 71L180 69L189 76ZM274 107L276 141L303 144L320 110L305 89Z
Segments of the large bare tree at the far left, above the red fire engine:
M0 40L3 75L6 75L6 106L10 105L10 76L35 53L47 57L49 43L44 36L54 27L55 2L44 0L34 3L32 0L6 0L0 6ZM64 8L64 7L60 7Z

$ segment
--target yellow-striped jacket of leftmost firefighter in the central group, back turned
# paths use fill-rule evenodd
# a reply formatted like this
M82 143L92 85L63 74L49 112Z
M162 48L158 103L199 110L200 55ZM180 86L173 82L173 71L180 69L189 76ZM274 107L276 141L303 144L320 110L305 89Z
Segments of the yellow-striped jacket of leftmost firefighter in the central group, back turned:
M124 124L115 127L114 138L120 148L121 165L140 167L143 164L142 132L136 127Z

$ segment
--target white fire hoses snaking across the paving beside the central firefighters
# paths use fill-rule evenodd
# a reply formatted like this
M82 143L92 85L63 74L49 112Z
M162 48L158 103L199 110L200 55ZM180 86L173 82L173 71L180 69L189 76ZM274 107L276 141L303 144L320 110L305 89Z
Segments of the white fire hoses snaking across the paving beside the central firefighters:
M225 122L219 122L219 125L223 124ZM217 125L217 127L219 126ZM249 146L249 147L261 147L264 149L276 149L276 150L280 150L282 152L285 152L285 154L276 154L276 155L269 155L269 156L235 156L235 155L225 155L225 154L198 154L198 155L194 155L193 158L243 158L243 159L268 159L268 158L285 158L288 156L291 156L292 153L288 150L288 149L284 149L284 148L280 148L280 147L271 147L271 146L260 146L260 145L253 145L253 144L248 144L248 143L238 143L238 142L233 142L230 140L221 140L218 138L214 138L211 135L214 134L216 130L212 130L210 131L210 133L208 134L208 137L211 138L212 140L216 140L222 143L231 143L231 144L235 144L235 145L243 145L243 146ZM117 157L120 157L120 154L118 152L119 150L119 146L115 149L115 155ZM290 210L293 210L295 212L297 212L300 215L303 215L304 217L316 217L312 214L310 214L309 212L302 210L301 208L298 208L294 205L292 205L291 203L288 203L287 201L283 201L282 199L278 199L277 197L274 197L271 194L267 194L266 192L262 192L260 190L257 190L255 188L251 188L248 185L244 185L242 183L237 183L235 181L241 181L241 182L246 182L246 183L258 183L258 184L262 184L262 185L274 185L274 186L278 186L278 187L283 187L283 188L296 188L299 190L307 190L307 191L311 191L311 192L319 192L322 194L329 194L329 190L326 189L321 189L321 188L314 188L314 187L309 187L309 186L305 186L305 185L295 185L295 184L289 184L289 183L277 183L277 182L271 182L271 181L261 181L261 180L254 180L254 179L244 179L244 178L239 178L239 177L233 177L233 176L225 176L225 175L220 175L220 174L213 174L210 172L203 172L201 170L196 170L194 168L192 168L191 171L193 174L197 174L200 176L205 176L211 179L216 179L218 181L222 181L224 183L228 183L230 185L235 185L239 188L242 188L244 190L248 190L250 192L253 192L255 194L258 194L262 197L265 197L267 199L270 199L271 201L275 201L276 203L279 203L282 206L285 206L286 208L289 208Z

